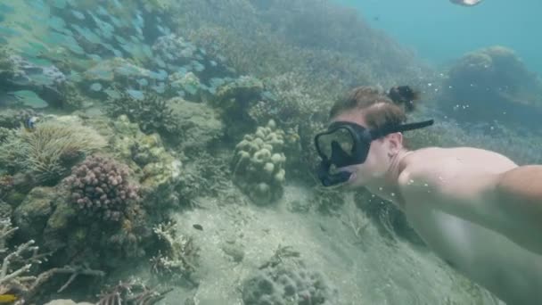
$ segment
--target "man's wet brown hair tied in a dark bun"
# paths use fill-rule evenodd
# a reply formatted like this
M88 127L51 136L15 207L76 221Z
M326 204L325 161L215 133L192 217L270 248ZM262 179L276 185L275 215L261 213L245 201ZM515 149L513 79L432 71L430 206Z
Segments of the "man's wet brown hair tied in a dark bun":
M368 128L388 128L406 121L406 113L415 110L419 94L411 87L392 87L382 92L376 87L356 87L333 104L330 119L347 111L363 111Z

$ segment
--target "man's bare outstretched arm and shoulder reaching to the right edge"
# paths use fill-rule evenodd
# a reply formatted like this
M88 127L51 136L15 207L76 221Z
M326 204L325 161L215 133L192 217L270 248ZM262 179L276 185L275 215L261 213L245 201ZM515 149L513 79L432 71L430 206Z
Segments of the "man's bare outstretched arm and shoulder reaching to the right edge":
M436 209L487 227L542 255L542 165L513 167L497 175L461 176L457 173L463 169L453 170L461 163L447 164L431 164L444 169L440 171L407 167L399 177L401 194L415 202L431 191L432 200L438 202Z

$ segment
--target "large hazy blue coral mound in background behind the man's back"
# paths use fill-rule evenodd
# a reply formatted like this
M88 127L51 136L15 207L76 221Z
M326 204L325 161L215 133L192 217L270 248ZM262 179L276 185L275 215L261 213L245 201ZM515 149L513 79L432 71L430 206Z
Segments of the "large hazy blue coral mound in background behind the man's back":
M467 121L501 120L534 127L542 114L542 81L513 50L490 46L465 54L448 71L442 106Z

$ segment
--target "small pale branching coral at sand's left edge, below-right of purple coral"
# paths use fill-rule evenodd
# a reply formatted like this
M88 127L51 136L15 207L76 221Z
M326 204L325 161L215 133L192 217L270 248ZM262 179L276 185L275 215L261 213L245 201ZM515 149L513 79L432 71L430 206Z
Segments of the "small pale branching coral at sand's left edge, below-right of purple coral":
M193 238L177 235L175 222L168 222L154 227L154 233L163 244L158 255L151 259L152 273L160 277L185 279L189 284L196 284L193 274L198 266L199 248Z

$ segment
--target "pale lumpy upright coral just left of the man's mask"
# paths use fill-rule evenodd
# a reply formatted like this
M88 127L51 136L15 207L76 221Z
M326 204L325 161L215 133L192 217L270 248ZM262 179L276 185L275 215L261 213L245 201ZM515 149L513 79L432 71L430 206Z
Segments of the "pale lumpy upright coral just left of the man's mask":
M274 202L283 195L286 157L284 132L269 120L266 127L244 136L235 146L234 182L257 204Z

